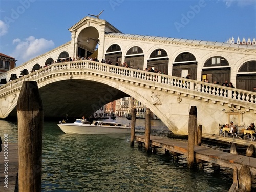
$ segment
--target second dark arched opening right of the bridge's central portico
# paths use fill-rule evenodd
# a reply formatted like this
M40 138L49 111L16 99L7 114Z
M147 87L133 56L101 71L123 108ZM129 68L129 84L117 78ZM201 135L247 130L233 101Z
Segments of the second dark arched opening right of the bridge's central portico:
M143 50L138 46L134 46L130 48L126 53L125 61L129 65L129 67L143 70L143 64L144 64ZM119 65L120 64L121 63L119 63Z

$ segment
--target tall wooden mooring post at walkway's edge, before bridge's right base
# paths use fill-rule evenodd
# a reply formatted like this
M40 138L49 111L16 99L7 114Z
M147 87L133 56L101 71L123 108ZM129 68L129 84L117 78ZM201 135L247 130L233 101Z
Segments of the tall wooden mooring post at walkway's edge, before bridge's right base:
M197 129L197 107L191 106L188 119L188 153L187 166L194 167L194 149L195 149L195 130Z

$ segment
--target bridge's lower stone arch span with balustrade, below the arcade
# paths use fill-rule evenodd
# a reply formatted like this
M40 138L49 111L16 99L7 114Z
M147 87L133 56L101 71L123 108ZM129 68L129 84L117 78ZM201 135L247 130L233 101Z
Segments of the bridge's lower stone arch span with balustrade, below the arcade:
M176 134L187 134L191 106L197 106L203 133L219 124L238 126L256 119L256 93L175 76L81 60L56 63L0 87L0 118L16 117L23 81L36 81L44 117L90 116L110 101L132 96Z

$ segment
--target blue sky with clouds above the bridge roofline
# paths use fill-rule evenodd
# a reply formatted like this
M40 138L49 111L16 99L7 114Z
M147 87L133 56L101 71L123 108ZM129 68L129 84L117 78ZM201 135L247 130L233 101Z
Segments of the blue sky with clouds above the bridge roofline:
M0 52L17 66L71 40L88 14L122 33L225 42L256 38L256 0L0 0Z

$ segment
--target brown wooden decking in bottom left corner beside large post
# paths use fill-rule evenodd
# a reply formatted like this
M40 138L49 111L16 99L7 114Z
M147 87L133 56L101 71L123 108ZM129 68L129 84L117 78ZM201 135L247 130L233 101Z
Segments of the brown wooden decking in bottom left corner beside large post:
M18 143L9 143L8 142L8 159L5 159L4 156L4 141L2 140L2 151L0 152L0 191L1 192L14 192L16 177L18 172ZM8 161L7 161L8 160ZM7 163L6 166L5 163ZM6 169L8 168L8 170ZM5 174L5 170L8 171L8 174ZM5 175L8 175L8 188L5 187Z

